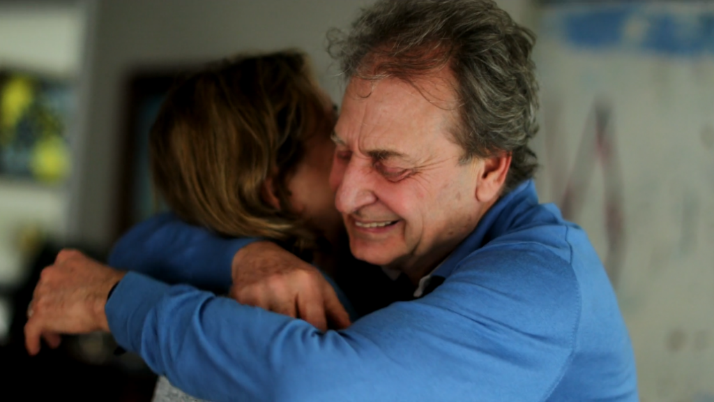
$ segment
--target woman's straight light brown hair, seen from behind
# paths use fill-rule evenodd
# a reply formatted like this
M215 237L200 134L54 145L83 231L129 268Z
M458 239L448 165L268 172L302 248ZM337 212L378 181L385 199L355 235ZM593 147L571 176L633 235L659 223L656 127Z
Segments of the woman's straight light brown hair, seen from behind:
M184 77L151 127L156 190L181 219L221 235L312 247L287 180L308 139L329 135L335 117L325 102L296 51L241 55ZM279 210L263 198L268 177Z

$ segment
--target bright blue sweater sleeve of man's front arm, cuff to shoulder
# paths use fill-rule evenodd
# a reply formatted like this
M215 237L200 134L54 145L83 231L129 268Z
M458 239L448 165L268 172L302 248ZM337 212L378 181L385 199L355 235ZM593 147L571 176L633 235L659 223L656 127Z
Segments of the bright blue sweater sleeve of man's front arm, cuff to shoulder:
M528 247L477 254L341 331L137 273L106 313L120 345L211 401L544 401L573 353L573 272Z

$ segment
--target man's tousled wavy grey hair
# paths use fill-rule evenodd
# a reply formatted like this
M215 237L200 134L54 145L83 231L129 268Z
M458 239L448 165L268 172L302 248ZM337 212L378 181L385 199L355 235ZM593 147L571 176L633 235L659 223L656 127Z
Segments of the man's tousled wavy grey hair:
M396 77L414 84L443 67L456 79L463 161L513 155L504 192L533 177L528 140L538 132L535 34L492 0L380 0L351 30L328 34L329 52L349 79Z

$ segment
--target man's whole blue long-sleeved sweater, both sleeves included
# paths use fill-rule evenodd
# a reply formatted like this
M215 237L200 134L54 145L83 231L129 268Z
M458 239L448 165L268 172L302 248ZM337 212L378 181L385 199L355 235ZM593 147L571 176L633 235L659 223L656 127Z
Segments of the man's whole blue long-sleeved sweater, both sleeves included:
M225 288L247 244L171 217L140 229L112 265L202 287ZM445 280L423 298L326 333L141 273L121 280L106 314L120 345L212 401L638 401L605 270L580 227L538 204L533 182L499 200L433 275Z

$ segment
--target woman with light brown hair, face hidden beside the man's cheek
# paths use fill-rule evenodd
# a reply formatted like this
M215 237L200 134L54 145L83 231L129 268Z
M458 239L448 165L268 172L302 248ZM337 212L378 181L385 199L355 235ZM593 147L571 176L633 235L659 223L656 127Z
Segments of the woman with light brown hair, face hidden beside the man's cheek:
M273 240L332 272L343 231L328 185L335 120L300 52L211 64L175 84L161 106L149 137L154 186L184 222L226 237ZM171 216L136 227L114 255L142 225L162 219ZM119 254L126 258L126 250ZM155 266L110 263L162 276ZM247 304L271 309L259 302ZM176 400L193 398L161 378L154 401Z

